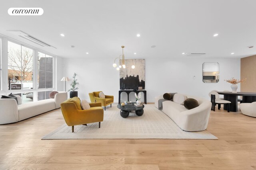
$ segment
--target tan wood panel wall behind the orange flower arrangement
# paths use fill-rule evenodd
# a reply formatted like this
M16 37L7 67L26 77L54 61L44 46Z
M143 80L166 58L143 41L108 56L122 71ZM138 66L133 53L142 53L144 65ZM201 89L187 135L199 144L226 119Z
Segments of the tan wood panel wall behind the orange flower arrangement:
M256 92L256 55L241 59L241 92Z

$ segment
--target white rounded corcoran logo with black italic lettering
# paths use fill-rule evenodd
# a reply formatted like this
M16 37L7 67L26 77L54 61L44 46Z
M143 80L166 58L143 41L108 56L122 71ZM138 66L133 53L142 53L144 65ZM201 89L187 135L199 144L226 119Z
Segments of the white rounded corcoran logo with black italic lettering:
M42 8L9 8L8 14L10 16L41 16L44 10Z

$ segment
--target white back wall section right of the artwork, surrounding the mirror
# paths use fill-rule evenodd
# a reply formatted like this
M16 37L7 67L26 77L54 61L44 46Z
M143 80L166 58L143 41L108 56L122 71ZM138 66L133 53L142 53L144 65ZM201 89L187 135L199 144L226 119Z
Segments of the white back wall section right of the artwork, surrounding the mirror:
M204 62L220 64L220 81L218 83L202 81L202 64ZM240 79L240 59L146 60L146 89L150 90L147 95L150 102L153 102L154 96L166 92L179 92L210 100L208 93L211 90L231 90L231 84L224 81L231 77ZM238 86L238 91L240 91L240 85Z

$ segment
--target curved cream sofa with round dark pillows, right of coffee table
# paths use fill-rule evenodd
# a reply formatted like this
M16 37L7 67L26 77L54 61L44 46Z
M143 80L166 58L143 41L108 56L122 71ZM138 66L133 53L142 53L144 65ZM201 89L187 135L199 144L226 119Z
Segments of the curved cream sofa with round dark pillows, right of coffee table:
M176 95L176 94L175 94ZM174 95L174 97L175 97ZM186 109L183 105L172 102L162 102L162 112L168 115L184 131L203 131L207 128L211 102L203 98L182 94L187 98L194 98L199 106L194 109ZM158 108L158 100L164 99L163 95L155 98L155 106Z

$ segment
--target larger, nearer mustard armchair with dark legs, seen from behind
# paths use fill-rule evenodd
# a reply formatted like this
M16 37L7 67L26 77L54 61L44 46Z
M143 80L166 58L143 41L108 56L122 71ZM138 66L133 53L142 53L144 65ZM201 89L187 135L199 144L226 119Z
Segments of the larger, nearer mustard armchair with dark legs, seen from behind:
M87 125L87 123L94 123L103 121L103 109L101 103L89 103L90 109L82 110L81 101L78 97L70 98L60 104L62 115L68 126L72 126L74 132L74 125Z

